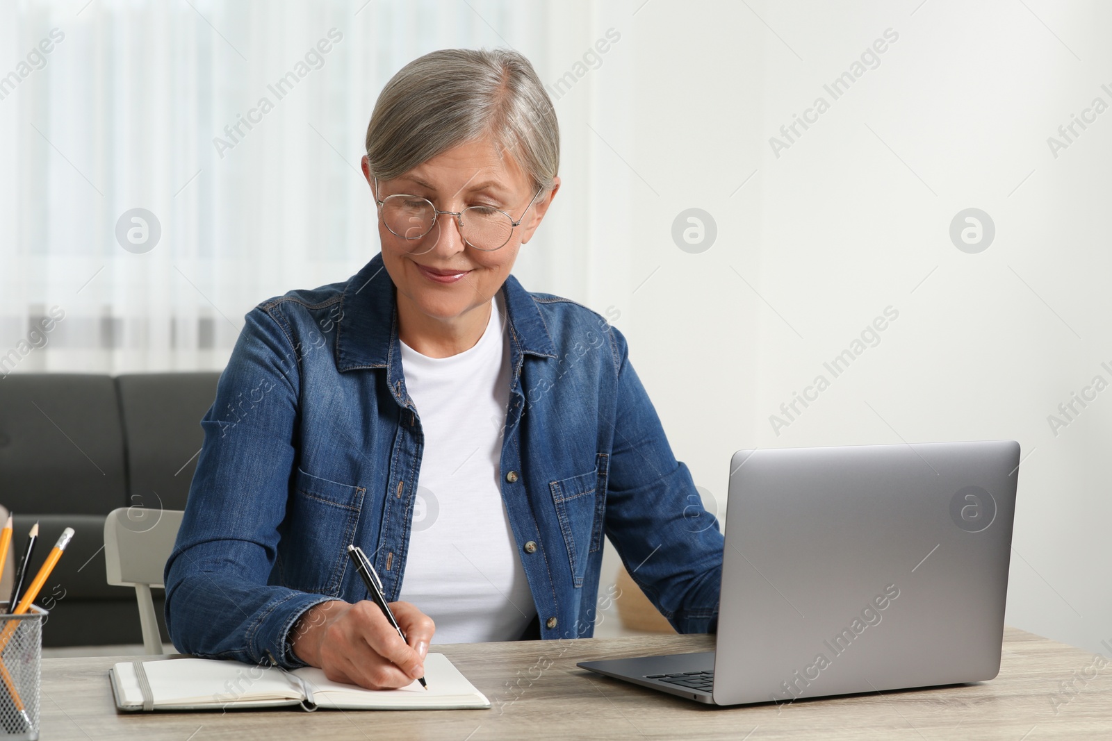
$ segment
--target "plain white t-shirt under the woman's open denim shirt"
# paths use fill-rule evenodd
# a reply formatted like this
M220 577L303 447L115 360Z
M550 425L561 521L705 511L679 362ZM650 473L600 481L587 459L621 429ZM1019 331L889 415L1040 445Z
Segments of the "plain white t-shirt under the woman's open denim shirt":
M400 599L436 622L434 643L513 641L536 615L498 480L509 403L502 293L475 347L449 358L401 343L425 433Z

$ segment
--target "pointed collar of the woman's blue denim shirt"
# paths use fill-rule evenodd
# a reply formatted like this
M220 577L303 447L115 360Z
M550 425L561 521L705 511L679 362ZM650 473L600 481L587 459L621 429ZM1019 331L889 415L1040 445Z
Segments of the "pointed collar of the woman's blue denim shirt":
M502 286L510 342L522 353L555 358L556 346L540 308L513 276ZM401 351L398 340L397 289L381 253L348 280L336 326L336 367L389 368Z

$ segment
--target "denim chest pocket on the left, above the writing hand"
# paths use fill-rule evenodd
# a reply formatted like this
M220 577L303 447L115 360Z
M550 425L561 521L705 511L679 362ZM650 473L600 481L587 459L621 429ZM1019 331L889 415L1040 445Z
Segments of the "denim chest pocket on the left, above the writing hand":
M355 538L366 489L306 473L294 474L286 508L285 531L278 542L278 573L282 587L337 597Z

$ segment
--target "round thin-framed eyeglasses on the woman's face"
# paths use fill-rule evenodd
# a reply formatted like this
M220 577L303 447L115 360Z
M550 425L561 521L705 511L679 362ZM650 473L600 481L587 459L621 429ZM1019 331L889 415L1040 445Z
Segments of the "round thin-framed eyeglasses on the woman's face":
M375 203L378 204L379 218L391 234L415 242L408 250L410 254L425 254L436 247L438 240L430 240L431 243L428 246L416 242L433 231L436 219L441 213L456 217L459 236L468 247L483 252L494 252L509 241L514 228L520 226L543 190L544 188L537 189L522 212L522 218L517 220L493 206L468 206L463 211L440 211L427 198L406 193L395 193L383 200L378 200L376 196ZM378 178L375 178L375 192L378 192Z

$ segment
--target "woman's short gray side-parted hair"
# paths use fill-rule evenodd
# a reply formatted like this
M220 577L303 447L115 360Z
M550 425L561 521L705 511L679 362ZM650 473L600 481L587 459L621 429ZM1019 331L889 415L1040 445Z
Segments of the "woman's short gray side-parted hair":
M440 49L409 62L383 88L367 126L370 173L389 180L437 154L492 134L533 188L559 169L556 110L525 57L508 49Z

